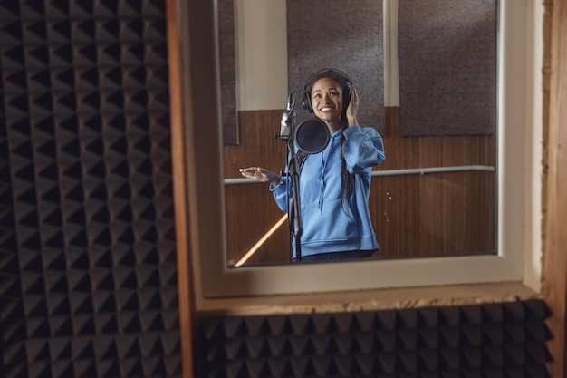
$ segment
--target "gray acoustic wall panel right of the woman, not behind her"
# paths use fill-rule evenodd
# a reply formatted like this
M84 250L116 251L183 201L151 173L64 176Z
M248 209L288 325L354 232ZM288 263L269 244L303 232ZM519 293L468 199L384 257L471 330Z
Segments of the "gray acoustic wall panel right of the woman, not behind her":
M399 0L403 136L494 134L497 0Z

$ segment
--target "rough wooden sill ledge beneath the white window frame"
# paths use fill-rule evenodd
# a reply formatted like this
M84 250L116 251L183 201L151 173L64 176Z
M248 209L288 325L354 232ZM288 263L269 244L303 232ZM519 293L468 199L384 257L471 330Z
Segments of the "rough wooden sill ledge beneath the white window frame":
M408 287L285 296L198 299L197 317L376 311L541 298L521 282Z

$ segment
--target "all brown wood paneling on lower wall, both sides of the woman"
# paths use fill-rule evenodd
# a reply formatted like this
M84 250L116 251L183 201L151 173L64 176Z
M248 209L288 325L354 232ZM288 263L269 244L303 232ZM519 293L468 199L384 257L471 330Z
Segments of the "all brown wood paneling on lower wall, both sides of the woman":
M396 121L395 114L390 109L390 121ZM285 143L274 138L280 118L277 110L240 111L240 144L225 146L226 178L240 178L238 168L255 165L283 170ZM384 137L384 146L386 160L374 170L490 165L495 156L492 136L391 136ZM380 243L379 257L492 251L494 179L485 181L492 176L472 171L374 178L369 206ZM282 216L267 185L227 185L228 260L238 262ZM247 263L287 261L289 228L285 222Z

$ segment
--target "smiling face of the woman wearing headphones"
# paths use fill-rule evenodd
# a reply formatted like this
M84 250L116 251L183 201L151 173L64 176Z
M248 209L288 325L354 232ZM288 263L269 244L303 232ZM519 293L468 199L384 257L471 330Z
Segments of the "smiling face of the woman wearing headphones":
M322 78L313 83L311 90L313 113L322 121L341 121L342 88L339 82Z

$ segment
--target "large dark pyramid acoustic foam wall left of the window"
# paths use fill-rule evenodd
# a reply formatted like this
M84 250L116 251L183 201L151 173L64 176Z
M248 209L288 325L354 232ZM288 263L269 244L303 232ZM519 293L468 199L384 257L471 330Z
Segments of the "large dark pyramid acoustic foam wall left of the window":
M164 6L0 3L5 377L181 375Z

